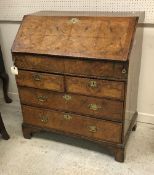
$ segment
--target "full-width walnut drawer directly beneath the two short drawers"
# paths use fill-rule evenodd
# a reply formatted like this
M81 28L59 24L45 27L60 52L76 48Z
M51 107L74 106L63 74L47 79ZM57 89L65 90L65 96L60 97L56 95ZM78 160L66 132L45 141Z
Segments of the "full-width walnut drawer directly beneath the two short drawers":
M123 102L75 94L18 87L22 104L122 121Z

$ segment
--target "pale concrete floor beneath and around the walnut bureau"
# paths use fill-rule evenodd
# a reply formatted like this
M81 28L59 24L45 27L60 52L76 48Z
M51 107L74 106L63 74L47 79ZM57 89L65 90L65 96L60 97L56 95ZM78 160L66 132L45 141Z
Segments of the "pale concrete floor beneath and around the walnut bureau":
M10 140L0 138L0 175L154 175L154 125L139 123L124 163L102 146L53 133L22 136L19 104L0 102Z

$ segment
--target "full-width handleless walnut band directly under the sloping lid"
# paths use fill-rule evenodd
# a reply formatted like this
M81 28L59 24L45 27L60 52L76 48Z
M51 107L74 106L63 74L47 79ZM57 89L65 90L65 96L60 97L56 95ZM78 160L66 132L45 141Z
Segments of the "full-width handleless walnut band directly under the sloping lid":
M127 63L97 60L67 59L16 54L13 55L19 69L50 73L65 73L101 78L127 79Z

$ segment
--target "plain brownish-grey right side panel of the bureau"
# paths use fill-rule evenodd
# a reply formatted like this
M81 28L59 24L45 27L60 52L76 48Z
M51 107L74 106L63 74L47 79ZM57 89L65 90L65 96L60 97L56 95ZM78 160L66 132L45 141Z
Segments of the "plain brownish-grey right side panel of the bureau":
M142 54L142 40L143 28L136 29L134 43L129 58L129 74L128 82L126 84L126 104L125 104L125 118L124 118L124 133L126 136L132 117L137 112L137 97L138 97L138 84Z

